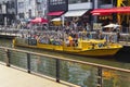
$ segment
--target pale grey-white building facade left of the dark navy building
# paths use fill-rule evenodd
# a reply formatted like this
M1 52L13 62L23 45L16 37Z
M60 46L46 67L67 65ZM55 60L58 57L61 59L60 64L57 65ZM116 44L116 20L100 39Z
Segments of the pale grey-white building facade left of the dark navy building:
M47 0L18 0L17 1L17 17L46 17Z

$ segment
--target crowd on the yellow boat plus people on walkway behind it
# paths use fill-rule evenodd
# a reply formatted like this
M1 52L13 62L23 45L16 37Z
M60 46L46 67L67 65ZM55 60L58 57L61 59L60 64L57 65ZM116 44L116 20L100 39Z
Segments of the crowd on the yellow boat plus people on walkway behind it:
M36 26L42 26L39 29ZM119 32L115 34L103 34L102 30L92 32L89 23L66 22L64 26L42 25L42 24L22 24L21 28L28 28L28 33L22 33L23 38L37 39L40 44L78 46L78 39L105 39L108 42L118 42Z

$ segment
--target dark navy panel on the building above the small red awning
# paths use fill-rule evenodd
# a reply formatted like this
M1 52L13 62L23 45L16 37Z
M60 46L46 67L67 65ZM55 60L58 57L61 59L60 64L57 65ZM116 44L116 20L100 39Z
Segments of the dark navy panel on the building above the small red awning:
M49 0L49 12L67 11L68 0Z

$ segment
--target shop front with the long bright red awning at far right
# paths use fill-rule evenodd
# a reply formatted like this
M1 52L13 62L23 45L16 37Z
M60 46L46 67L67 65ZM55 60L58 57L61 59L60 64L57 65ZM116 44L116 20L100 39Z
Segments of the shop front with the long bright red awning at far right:
M127 28L130 26L130 7L121 7L121 8L110 8L110 9L95 9L92 12L92 15L96 16L106 16L105 22L112 23L115 22L116 24L122 25L121 32L127 32ZM121 16L118 18L116 15ZM127 17L125 17L127 15ZM117 18L115 18L117 17ZM116 21L115 21L116 20ZM107 23L107 24L108 24ZM104 22L103 22L104 24Z

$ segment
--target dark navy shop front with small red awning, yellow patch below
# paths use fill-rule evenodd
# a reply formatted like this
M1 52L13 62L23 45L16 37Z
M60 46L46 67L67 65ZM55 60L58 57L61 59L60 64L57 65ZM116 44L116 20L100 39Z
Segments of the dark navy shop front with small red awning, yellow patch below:
M48 18L52 25L64 25L62 15L68 11L68 0L49 0ZM61 17L60 21L54 18ZM52 21L53 20L53 21Z

